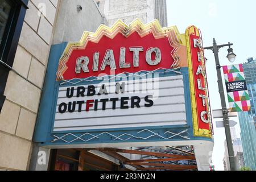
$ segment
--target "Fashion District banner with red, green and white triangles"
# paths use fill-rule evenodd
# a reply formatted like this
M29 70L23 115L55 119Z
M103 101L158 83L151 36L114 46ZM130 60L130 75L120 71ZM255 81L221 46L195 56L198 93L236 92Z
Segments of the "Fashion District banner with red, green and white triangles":
M250 97L242 64L224 66L224 78L231 112L249 111Z

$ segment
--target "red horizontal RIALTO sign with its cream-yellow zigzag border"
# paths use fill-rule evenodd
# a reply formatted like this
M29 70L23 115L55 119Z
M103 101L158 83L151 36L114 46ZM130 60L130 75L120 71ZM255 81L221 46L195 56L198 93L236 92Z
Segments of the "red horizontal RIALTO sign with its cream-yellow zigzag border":
M112 30L102 25L95 35L85 33L79 45L69 44L65 49L58 78L71 80L97 77L101 73L117 75L177 67L179 44L174 28L164 30L157 22L139 27L138 23L135 21L128 28L118 21Z

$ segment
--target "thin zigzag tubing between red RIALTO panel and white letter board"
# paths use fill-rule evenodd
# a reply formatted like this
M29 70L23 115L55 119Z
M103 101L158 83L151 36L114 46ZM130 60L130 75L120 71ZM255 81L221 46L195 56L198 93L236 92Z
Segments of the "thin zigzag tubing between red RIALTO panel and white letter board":
M64 84L79 84L80 82L82 81L88 81L88 82L92 82L92 81L109 81L109 80L113 80L115 78L127 78L127 77L130 77L131 75L133 76L137 76L137 77L144 77L144 76L147 76L148 74L151 74L151 73L168 73L168 72L175 72L177 74L181 74L181 72L179 71L176 71L176 69L179 69L179 68L175 68L175 69L164 69L164 68L158 68L158 69L155 69L154 71L139 71L137 73L129 73L129 72L123 72L123 73L119 73L118 75L115 75L115 76L108 76L109 78L106 78L106 76L102 76L102 77L96 77L96 76L90 76L88 78L73 78L71 80L62 80L63 82L60 83L60 85L64 85ZM164 70L164 71L163 71ZM159 72L157 72L159 71ZM144 73L143 75L139 74L139 73L143 73L143 72L147 72L147 73ZM123 75L126 75L126 76L123 76ZM77 81L76 81L77 80Z

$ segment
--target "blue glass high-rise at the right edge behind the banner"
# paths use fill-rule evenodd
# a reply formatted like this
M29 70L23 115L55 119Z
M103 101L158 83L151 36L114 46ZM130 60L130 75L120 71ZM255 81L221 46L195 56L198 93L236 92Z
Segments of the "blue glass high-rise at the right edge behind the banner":
M247 63L243 64L243 69L250 96L251 111L239 112L238 118L241 127L241 139L245 166L256 170L256 60L249 58Z

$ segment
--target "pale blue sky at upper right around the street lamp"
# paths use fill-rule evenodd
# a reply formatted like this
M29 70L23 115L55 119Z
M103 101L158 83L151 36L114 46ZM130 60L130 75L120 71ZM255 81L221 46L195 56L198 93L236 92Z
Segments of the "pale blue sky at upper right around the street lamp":
M204 47L212 46L213 38L217 44L233 43L237 59L234 64L244 63L248 57L256 57L256 1L254 0L166 0L168 26L176 25L183 34L189 25L200 28ZM229 65L226 59L227 48L219 52L221 65ZM205 51L207 75L212 109L221 109L218 94L217 73L212 51ZM213 69L214 68L214 69ZM227 106L228 106L228 102ZM238 122L238 118L233 119ZM215 121L214 121L215 123ZM236 125L237 135L240 126ZM214 124L213 164L216 170L224 170L224 129L216 129Z

